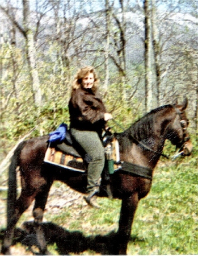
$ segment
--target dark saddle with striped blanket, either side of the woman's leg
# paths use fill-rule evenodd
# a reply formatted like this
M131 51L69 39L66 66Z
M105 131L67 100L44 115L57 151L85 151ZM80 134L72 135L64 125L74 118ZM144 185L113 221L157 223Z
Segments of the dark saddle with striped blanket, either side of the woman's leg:
M75 143L69 130L65 131L64 137L61 142L58 139L55 141L50 141L49 139L44 162L70 171L86 172L87 163L83 160L83 155L75 148ZM102 141L105 148L108 171L109 174L113 174L120 167L119 143L109 128L104 131Z

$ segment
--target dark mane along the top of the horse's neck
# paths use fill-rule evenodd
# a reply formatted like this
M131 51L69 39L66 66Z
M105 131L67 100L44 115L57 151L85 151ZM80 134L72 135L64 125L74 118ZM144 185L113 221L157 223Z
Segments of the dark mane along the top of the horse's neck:
M145 139L153 137L154 134L154 117L159 112L164 112L167 109L172 109L171 105L160 106L157 109L151 110L151 112L145 114L142 118L138 119L136 122L123 133L117 134L118 139L123 139L124 146L130 144L131 140L134 142L144 141Z

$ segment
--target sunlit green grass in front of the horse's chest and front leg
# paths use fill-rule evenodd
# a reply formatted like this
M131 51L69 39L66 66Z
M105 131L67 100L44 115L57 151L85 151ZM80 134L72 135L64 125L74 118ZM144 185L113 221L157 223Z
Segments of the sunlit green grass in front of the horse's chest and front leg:
M197 174L188 164L158 168L142 200L132 233L145 243L129 244L129 254L197 254Z

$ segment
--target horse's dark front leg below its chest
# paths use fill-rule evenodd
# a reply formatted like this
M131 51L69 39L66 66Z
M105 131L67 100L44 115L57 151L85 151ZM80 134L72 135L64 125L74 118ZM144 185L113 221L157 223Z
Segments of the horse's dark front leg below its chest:
M127 245L130 238L132 223L138 205L138 193L124 198L121 205L119 230L117 232L117 253L127 255Z

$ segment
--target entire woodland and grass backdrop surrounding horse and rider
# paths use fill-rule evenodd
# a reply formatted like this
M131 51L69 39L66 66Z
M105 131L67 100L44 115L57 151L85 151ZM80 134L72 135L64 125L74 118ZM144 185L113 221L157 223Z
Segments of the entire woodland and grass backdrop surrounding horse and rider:
M197 5L197 0L1 0L1 230L13 147L69 124L74 74L92 65L108 112L120 125L109 121L113 131L188 97L192 155L159 161L151 192L138 207L128 254L197 254ZM165 144L166 154L174 151ZM48 220L91 236L117 229L120 201L100 199L100 212L87 211L82 200L76 206L66 201L68 195L79 197L53 184ZM22 246L15 247L17 255L16 250L22 255ZM58 250L54 243L53 254Z

